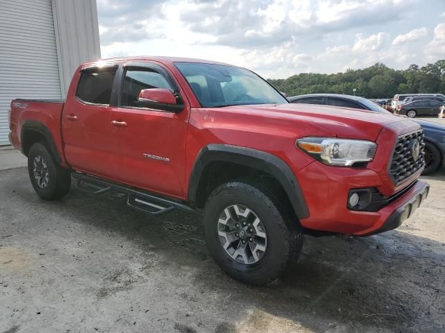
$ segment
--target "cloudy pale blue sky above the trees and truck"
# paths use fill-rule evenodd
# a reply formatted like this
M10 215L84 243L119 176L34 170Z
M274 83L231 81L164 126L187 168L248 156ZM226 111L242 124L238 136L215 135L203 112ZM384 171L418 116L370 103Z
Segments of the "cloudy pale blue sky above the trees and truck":
M445 59L445 0L97 0L102 58L178 56L265 78Z

